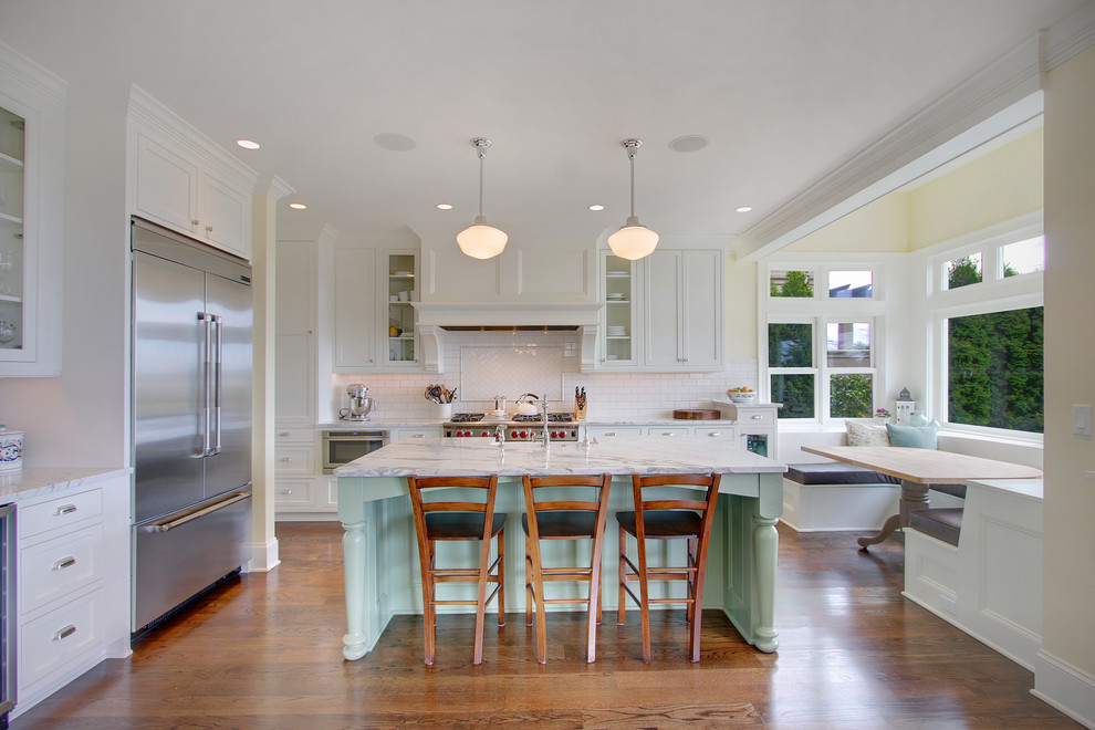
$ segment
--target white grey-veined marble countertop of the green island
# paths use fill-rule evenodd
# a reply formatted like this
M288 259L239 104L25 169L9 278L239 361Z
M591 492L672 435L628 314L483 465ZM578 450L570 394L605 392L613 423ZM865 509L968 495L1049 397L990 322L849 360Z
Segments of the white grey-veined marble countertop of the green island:
M615 436L580 442L513 442L499 448L489 439L405 439L334 470L335 477L420 477L497 473L783 473L786 466L701 436L666 439Z

